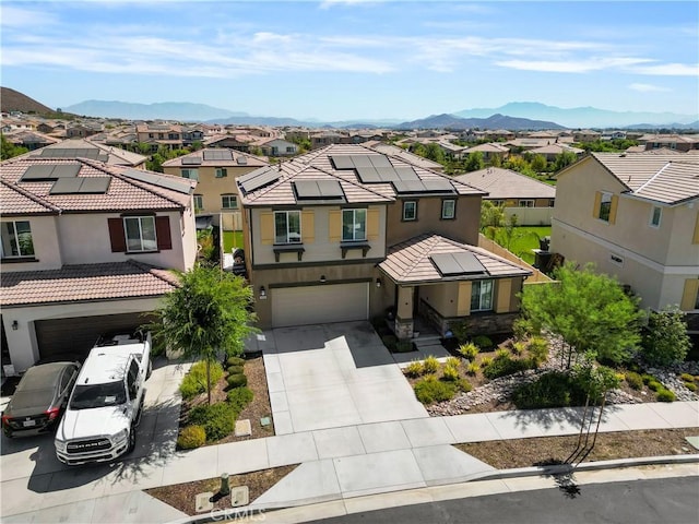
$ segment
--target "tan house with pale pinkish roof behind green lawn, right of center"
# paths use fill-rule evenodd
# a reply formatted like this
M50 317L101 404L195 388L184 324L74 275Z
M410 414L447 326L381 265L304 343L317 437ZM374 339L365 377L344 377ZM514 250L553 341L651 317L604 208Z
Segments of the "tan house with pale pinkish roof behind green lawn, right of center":
M556 199L553 186L500 167L466 172L454 179L487 192L483 200L503 206L507 216L517 215L519 225L550 225Z

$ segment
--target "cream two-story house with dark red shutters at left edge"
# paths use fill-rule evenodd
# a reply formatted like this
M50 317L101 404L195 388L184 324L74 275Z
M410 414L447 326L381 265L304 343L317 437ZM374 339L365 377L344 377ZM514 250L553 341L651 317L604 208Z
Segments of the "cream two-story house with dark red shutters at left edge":
M194 264L194 186L86 158L0 164L3 365L85 354L145 323L169 270Z

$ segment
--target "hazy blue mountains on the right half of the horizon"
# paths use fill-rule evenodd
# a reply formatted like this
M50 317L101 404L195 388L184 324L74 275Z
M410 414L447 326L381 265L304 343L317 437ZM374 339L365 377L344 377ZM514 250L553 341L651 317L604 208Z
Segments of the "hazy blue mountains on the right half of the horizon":
M677 115L673 112L609 111L595 107L573 107L564 109L536 102L512 102L494 108L464 109L454 112L462 118L486 118L501 114L510 117L550 120L568 128L626 128L637 127L679 127L697 121L698 115Z

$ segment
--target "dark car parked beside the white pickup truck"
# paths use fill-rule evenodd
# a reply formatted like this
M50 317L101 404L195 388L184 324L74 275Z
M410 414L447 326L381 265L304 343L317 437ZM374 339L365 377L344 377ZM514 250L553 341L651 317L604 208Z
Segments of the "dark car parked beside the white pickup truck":
M2 413L4 434L12 438L56 429L79 371L79 362L42 364L27 369Z

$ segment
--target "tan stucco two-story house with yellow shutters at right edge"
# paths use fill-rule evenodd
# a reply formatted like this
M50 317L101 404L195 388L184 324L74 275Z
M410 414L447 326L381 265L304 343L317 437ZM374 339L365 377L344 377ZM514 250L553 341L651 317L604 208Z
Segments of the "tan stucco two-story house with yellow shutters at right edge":
M558 177L550 251L616 275L699 332L699 157L594 153Z

